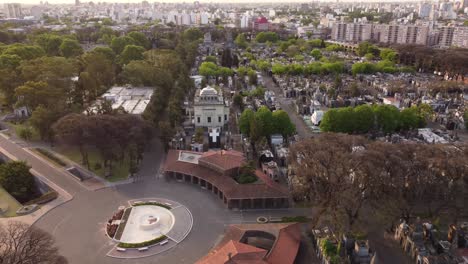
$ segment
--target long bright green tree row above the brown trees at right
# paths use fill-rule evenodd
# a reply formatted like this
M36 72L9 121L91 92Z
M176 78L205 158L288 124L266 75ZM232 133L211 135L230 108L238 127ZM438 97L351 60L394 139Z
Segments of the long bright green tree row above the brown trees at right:
M393 105L360 105L357 107L332 108L320 123L324 132L362 134L382 131L393 133L424 127L432 115L427 104L398 110Z

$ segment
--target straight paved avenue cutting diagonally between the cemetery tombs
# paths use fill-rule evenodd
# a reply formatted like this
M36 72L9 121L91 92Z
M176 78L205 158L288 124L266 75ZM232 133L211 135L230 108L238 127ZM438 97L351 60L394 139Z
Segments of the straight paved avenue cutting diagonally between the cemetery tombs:
M299 116L296 112L296 109L294 109L292 103L293 100L290 98L285 98L283 96L283 92L281 89L276 85L271 77L268 77L266 75L263 75L263 82L265 84L265 88L275 92L276 94L276 100L281 106L281 109L286 111L289 115L289 118L291 121L296 125L296 130L297 134L299 135L300 138L310 138L314 135L314 133L311 131L311 129L306 125L304 120L302 119L301 116Z

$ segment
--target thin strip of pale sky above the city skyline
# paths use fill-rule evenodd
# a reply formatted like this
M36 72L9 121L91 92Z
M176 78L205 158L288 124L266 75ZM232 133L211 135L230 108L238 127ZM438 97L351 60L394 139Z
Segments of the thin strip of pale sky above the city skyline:
M12 0L12 1L9 1L9 0L5 0L5 2L3 4L0 4L1 7L3 7L4 4L8 4L8 3L18 3L18 4L25 4L25 5L38 5L40 4L40 0ZM48 2L49 4L75 4L75 0L43 0L42 2ZM94 2L94 3L121 3L121 4L125 4L125 3L129 3L129 4L135 4L135 3L141 3L143 2L143 0L96 0L96 1L90 1L90 0L86 0L86 1L80 1L82 2L83 4L85 3L88 3L88 2ZM190 3L193 3L195 2L195 0L193 1L190 1L190 0L152 0L152 1L147 1L149 3L155 3L155 2L159 2L159 3L187 3L187 4L190 4ZM305 4L310 4L310 3L314 3L314 2L323 2L323 3L326 3L326 2L330 2L330 3L336 3L336 1L333 1L333 0L315 0L315 1L304 1L304 0L254 0L254 1L250 1L250 0L217 0L217 1L199 1L201 4L216 4L216 3L219 3L219 4L228 4L228 3L249 3L249 4L255 4L255 3L259 3L259 4L267 4L267 3L271 3L271 4L279 4L279 3L305 3ZM420 0L409 0L409 1L395 1L395 0L383 0L383 1L374 1L374 0L360 0L360 1L353 1L353 0L340 0L339 2L341 3L350 3L350 2L355 2L355 3L402 3L402 2L422 2Z

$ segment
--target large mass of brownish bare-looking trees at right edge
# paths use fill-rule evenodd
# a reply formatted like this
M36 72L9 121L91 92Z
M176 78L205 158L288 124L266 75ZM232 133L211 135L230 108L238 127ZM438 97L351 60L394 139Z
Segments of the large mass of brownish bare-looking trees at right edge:
M324 133L294 144L290 162L295 199L312 201L314 223L339 232L356 231L368 220L408 220L415 213L446 212L456 222L466 210L466 145L390 144Z

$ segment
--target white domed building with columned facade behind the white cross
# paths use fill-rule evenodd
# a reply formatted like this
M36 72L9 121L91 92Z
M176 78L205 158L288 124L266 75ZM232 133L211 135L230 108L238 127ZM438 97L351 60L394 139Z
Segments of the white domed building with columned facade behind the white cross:
M195 127L222 127L229 121L229 106L222 93L210 86L197 90L193 112Z

